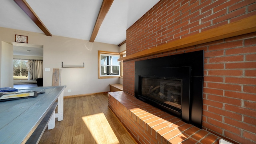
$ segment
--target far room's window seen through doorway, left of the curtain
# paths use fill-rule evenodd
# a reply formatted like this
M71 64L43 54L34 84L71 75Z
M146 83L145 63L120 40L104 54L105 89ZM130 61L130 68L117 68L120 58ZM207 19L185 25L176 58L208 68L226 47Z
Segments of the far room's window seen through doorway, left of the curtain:
M13 79L28 79L28 60L13 60Z

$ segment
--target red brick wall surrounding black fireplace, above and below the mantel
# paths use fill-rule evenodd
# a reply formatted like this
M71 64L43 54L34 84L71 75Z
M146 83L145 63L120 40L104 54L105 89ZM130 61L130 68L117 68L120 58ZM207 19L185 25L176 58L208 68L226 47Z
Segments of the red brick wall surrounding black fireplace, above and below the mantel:
M256 14L256 0L160 0L127 30L127 55ZM134 62L205 50L203 128L234 143L256 142L256 33L124 62L134 95Z

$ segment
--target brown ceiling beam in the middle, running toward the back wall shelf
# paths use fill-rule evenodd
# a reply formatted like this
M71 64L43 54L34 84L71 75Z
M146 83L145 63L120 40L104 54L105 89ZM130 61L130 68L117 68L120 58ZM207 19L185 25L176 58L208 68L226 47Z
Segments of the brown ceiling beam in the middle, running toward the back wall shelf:
M98 34L98 31L100 29L100 26L101 26L105 16L107 15L108 10L110 9L113 1L114 0L103 0L101 8L100 8L99 15L98 15L98 18L96 20L94 29L92 31L92 36L90 38L90 42L94 42L94 40L95 40L95 38L96 38L96 36Z

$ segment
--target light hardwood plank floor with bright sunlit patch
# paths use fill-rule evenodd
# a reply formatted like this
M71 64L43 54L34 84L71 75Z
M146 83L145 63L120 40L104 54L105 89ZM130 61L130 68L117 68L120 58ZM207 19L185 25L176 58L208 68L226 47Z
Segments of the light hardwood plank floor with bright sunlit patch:
M136 144L108 109L107 94L64 99L64 119L39 144Z

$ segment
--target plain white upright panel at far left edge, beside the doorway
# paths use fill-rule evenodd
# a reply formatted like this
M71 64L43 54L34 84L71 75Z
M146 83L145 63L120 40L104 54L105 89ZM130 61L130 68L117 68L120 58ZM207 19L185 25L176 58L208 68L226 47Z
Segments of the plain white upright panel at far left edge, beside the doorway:
M1 44L1 85L13 87L13 46L6 42Z

